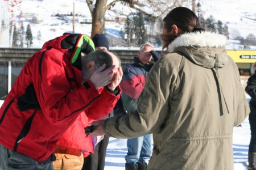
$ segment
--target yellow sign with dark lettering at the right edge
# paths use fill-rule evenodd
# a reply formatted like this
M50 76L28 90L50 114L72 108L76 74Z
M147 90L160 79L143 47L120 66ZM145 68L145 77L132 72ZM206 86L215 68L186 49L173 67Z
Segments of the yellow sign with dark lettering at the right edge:
M236 63L255 63L256 50L226 50L226 53Z

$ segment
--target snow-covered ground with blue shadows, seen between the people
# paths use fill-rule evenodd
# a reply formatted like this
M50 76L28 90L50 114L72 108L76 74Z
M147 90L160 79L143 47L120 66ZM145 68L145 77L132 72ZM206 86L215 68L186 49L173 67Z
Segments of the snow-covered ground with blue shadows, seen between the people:
M246 97L247 100L250 100L248 95ZM0 107L2 103L3 100L0 100ZM246 170L248 165L247 156L250 143L250 124L248 117L241 125L241 127L235 127L233 132L234 170ZM105 170L125 169L126 141L127 139L109 139Z

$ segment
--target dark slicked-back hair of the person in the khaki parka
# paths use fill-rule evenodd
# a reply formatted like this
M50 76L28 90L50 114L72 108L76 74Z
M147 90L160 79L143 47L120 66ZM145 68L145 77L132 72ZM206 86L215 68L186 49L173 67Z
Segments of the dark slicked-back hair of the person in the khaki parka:
M199 19L196 14L186 7L174 8L164 17L163 21L165 22L164 27L168 30L175 24L183 33L204 31L203 28L200 28Z

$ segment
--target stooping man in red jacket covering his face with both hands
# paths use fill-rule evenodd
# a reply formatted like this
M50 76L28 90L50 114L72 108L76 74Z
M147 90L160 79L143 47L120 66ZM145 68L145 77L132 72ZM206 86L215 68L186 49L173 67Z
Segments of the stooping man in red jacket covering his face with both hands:
M88 36L65 34L28 59L0 109L0 169L52 169L56 142L81 112L97 120L113 109L122 69L110 52L82 55L93 50Z

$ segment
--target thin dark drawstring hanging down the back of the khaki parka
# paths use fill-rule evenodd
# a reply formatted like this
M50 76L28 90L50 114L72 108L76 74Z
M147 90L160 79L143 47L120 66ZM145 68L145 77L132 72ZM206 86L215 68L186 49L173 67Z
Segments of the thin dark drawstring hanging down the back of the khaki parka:
M219 74L218 74L218 64L219 64L219 61L218 61L218 59L219 59L218 58L218 54L215 54L215 65L214 65L215 71L213 69L211 69L211 70L213 71L214 79L216 80L217 91L218 91L218 100L219 100L219 103L220 103L220 116L222 116L224 112L223 112L223 107L222 107L221 94L223 96L223 99L224 99L224 102L225 102L226 109L227 109L228 113L229 113L229 108L228 108L228 104L226 104L226 99L225 99L225 96L223 94L220 82L218 80L218 78L219 78Z

